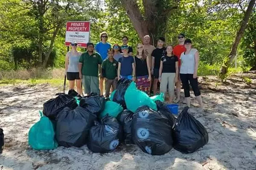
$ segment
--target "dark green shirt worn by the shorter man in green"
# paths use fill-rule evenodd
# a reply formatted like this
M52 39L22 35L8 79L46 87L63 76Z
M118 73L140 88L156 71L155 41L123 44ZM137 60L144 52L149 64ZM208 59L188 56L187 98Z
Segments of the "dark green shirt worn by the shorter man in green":
M102 69L105 70L104 77L107 79L115 79L117 77L118 62L113 59L111 62L109 59L105 59L102 62Z

